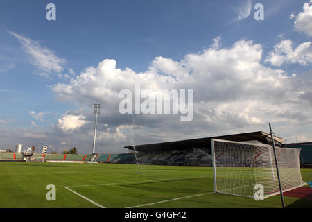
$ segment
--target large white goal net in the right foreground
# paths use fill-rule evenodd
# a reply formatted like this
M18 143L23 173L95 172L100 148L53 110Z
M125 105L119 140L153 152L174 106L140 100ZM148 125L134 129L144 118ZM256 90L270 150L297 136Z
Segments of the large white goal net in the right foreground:
M258 141L211 140L214 191L254 198L255 185L263 186L263 198L279 194L272 146ZM306 185L300 173L297 148L275 148L282 191Z

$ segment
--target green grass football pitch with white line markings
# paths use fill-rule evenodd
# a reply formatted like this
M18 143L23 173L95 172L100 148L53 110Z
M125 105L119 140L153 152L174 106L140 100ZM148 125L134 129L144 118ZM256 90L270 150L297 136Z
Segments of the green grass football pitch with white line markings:
M311 181L312 169L302 169L302 178ZM56 201L46 200L48 184L56 186ZM65 186L104 207L281 207L279 196L214 194L211 167L141 166L138 173L137 165L126 164L0 162L2 208L96 207ZM165 201L174 198L182 199ZM311 200L284 198L288 207L311 207Z

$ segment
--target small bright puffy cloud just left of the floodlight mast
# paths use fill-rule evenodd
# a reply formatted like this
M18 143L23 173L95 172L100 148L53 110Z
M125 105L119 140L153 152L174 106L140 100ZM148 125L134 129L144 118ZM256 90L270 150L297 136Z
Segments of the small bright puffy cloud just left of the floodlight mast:
M75 130L80 128L86 123L83 115L64 114L62 119L58 119L58 128L61 128L64 132Z

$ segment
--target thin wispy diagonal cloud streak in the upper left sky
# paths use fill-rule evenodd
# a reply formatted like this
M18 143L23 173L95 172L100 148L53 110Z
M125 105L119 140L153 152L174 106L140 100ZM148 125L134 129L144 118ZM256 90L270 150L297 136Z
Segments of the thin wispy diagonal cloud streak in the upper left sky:
M8 31L8 33L16 37L22 49L31 56L31 62L37 68L37 74L46 78L51 78L55 74L61 75L66 60L55 56L53 51L40 46L36 41L18 35L12 31Z

